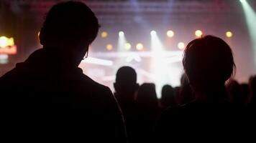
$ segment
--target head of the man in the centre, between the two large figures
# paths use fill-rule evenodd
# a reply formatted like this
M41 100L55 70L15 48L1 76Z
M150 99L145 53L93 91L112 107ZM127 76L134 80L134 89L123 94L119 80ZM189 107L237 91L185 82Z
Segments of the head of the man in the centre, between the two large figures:
M130 66L122 66L116 72L114 89L118 94L134 94L139 88L137 74Z

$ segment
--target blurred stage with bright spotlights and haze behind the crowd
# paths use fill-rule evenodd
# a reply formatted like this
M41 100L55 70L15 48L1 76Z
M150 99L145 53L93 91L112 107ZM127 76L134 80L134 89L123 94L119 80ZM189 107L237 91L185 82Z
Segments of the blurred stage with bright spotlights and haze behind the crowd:
M44 16L57 0L0 0L0 76L36 49ZM207 34L232 47L238 82L256 73L256 0L87 0L101 29L83 72L113 90L116 70L132 66L138 82L180 85L183 49ZM73 21L79 22L79 21ZM72 47L70 47L72 49ZM68 57L67 57L68 58Z

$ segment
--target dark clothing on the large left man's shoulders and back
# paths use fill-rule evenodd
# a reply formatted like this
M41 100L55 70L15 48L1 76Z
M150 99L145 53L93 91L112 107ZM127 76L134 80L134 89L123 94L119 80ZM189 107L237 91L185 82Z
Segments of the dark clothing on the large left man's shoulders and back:
M66 59L56 52L39 49L1 77L2 109L41 135L47 128L65 133L64 139L81 129L83 140L126 142L121 110L111 90L62 60ZM7 122L11 117L6 116Z

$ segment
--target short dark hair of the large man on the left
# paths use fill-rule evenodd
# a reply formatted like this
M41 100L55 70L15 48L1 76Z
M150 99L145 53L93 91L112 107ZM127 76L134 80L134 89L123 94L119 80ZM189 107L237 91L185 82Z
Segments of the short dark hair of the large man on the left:
M42 26L40 37L47 41L86 40L90 44L99 31L99 22L93 11L79 1L58 3L50 9Z

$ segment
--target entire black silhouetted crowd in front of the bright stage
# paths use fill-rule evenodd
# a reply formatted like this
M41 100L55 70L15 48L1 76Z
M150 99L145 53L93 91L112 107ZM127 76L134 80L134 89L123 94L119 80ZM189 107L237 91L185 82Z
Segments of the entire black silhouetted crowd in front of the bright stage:
M50 138L43 134L47 128L63 133L60 138L65 140L81 129L85 141L170 142L189 137L195 129L197 134L217 129L208 136L221 137L237 126L233 123L238 117L253 115L256 75L245 84L233 79L232 49L222 39L191 41L184 51L180 87L166 84L157 99L155 84L138 84L130 66L116 71L114 94L83 74L78 65L98 31L98 19L86 4L52 6L40 31L42 49L0 78L6 128L19 132L11 131L12 136ZM44 117L32 121L38 113ZM24 124L30 132L20 130Z

